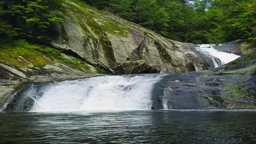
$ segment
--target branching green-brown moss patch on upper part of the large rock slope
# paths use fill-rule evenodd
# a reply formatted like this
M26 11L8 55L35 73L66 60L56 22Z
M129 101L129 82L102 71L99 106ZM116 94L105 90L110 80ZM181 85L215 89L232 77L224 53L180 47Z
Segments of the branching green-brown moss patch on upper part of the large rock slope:
M78 3L79 2L76 2L77 5ZM112 23L110 22L106 22L105 24L100 25L95 21L95 19L98 19L97 15L88 12L88 6L86 5L80 5L80 7L75 8L75 13L73 14L76 16L73 16L72 12L67 14L69 17L73 18L73 20L77 21L77 24L81 26L81 28L84 30L84 33L88 36L84 46L86 46L86 44L88 44L91 39L91 42L93 42L95 48L93 49L92 54L99 57L99 52L102 50L105 58L108 60L108 63L110 65L115 65L116 59L113 47L110 40L108 39L108 35L105 32L112 31L114 27L117 27L117 25L114 24L114 26L112 26ZM125 35L124 30L120 30L120 28L117 29L119 30L118 34Z

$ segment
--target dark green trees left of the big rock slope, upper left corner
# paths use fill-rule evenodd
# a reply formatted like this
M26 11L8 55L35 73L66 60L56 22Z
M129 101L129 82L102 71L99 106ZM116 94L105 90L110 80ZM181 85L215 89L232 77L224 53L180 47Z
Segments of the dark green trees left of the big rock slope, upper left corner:
M0 38L50 39L63 0L1 0Z

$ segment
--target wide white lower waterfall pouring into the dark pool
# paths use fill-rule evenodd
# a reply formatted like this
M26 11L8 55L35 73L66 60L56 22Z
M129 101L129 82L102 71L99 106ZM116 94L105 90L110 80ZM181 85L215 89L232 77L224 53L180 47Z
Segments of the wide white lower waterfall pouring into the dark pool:
M48 85L33 111L150 109L163 74L101 76Z

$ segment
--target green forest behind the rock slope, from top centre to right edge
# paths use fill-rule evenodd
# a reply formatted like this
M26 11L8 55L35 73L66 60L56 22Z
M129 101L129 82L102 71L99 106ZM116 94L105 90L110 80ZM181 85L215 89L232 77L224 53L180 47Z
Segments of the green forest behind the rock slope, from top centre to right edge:
M255 0L82 1L182 42L256 40Z

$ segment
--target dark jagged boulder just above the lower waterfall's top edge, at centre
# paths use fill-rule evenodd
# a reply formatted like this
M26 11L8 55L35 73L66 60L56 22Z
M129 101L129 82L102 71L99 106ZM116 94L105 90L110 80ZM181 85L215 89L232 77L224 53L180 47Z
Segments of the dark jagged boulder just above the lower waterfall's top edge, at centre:
M127 61L114 68L115 74L159 73L160 66L149 66L145 60Z

